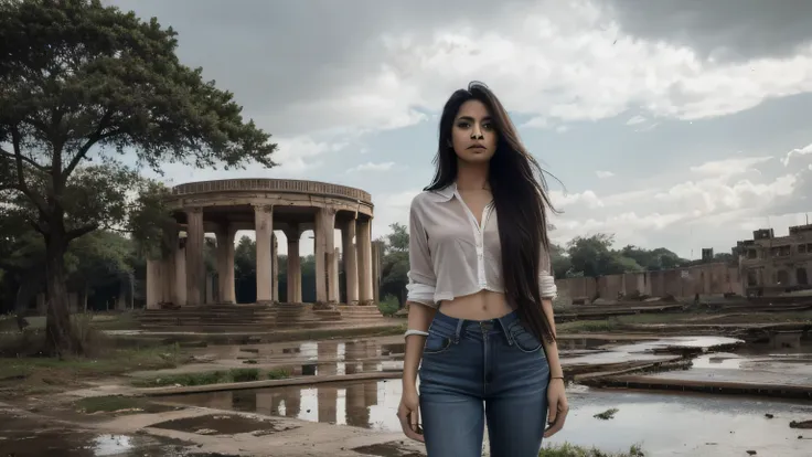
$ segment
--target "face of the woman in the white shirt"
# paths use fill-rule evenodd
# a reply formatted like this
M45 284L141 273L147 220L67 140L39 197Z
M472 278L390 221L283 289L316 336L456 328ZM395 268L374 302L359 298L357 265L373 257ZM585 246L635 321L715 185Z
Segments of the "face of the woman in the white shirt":
M496 152L496 126L480 100L468 100L460 106L451 127L453 151L466 162L487 162Z

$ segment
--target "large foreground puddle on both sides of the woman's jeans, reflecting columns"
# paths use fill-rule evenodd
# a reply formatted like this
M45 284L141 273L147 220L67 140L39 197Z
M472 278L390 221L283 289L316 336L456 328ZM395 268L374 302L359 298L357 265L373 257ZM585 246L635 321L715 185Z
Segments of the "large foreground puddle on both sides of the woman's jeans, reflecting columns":
M640 443L654 456L727 457L746 455L748 449L758 450L759 455L809 455L809 442L798 439L798 435L812 438L812 432L800 433L790 428L789 422L812 417L810 405L745 397L620 393L584 386L573 386L567 392L571 407L567 426L552 443L568 440L609 451L628 450L631 444ZM399 381L188 394L167 400L377 431L400 429L395 416L400 401ZM592 417L610 407L619 410L616 418ZM774 418L767 419L766 413Z

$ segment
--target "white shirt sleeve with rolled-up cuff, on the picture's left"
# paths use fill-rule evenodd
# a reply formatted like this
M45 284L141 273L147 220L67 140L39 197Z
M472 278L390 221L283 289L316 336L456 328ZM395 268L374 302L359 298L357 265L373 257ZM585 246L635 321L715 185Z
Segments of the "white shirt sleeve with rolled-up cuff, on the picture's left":
M428 235L420 219L419 203L416 196L412 201L409 210L409 283L406 285L406 299L436 308L435 288L437 276L431 262L431 253L428 248Z

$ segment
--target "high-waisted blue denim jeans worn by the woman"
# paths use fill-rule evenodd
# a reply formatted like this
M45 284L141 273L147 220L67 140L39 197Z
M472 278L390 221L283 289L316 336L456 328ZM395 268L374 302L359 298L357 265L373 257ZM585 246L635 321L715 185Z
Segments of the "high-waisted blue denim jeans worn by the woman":
M491 320L435 315L423 352L420 416L428 457L537 457L549 365L516 312Z

